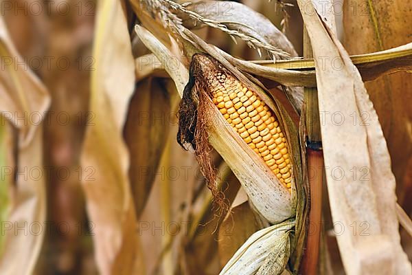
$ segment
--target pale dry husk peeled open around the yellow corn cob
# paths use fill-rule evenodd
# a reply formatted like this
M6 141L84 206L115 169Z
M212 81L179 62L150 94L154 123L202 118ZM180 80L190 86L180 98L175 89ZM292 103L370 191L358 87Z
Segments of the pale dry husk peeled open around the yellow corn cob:
M176 58L172 56L170 51L162 45L161 42L155 38L155 36L150 34L150 32L144 28L136 26L135 31L141 41L157 56L160 61L165 62ZM196 39L196 37L192 36L191 39ZM203 46L205 45L202 45L202 47ZM222 58L220 58L219 61L222 61ZM231 66L230 64L227 64L227 61L223 65ZM231 72L238 72L238 70L233 68L233 66L231 66L230 69ZM179 94L181 94L183 92L184 85L188 80L187 69L185 69L185 67L180 63L178 69L168 70L166 68L166 70L174 80ZM251 81L242 76L240 72L238 72L236 76L241 76L241 80L244 80L247 84L251 83ZM186 81L184 81L184 79L186 79ZM250 85L253 85L253 83ZM259 88L255 87L253 90L257 89ZM268 102L271 109L274 111L279 110L279 107L275 107L263 91L259 90L258 94L261 98L266 99L265 102ZM278 118L281 118L279 113L277 113L277 115ZM282 118L284 117L282 116ZM209 124L208 129L209 142L212 146L214 146L216 151L222 155L227 164L233 170L233 173L235 173L236 177L240 180L242 186L245 190L247 190L251 203L258 208L261 214L268 219L268 221L273 223L284 221L285 219L293 217L296 206L294 188L291 195L286 188L277 183L278 179L275 175L273 175L273 173L266 168L267 166L263 160L256 155L255 152L249 148L249 146L247 146L242 138L235 133L233 129L231 129L231 126L227 124L218 109L211 109L210 119L212 122ZM293 124L293 122L290 121L290 125L291 124ZM286 129L286 136L288 136L288 140L292 140L289 138L289 134L288 129ZM295 146L292 148L295 148ZM293 157L295 156L296 155L294 153ZM240 159L242 159L242 162L239 161ZM298 159L294 159L294 165L299 165L299 163L300 162ZM296 168L296 171L299 171L299 168ZM298 173L299 172L295 174ZM300 181L298 179L295 182Z

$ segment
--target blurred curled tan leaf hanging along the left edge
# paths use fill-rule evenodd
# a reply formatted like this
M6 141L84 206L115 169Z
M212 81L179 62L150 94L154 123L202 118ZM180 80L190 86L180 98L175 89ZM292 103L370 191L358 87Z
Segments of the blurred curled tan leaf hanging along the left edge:
M23 58L17 53L3 18L0 19L0 55L5 62L3 63L5 69L0 72L1 127L7 127L10 122L19 130L19 142L16 146L18 166L16 168L19 171L20 169L35 169L44 175L41 119L36 123L27 123L27 121L30 121L29 118L32 118L33 113L40 113L40 118L43 118L50 98L40 80L34 76L30 69L27 69ZM8 148L8 150L12 150L12 148ZM7 154L8 150L2 151L1 154ZM17 172L14 170L14 165L7 163L2 169L4 171L8 169L8 175L4 174L3 176L6 176L5 179L13 184L10 213L5 220L11 228L5 232L0 270L2 274L32 274L45 232L14 234L12 226L18 225L24 228L24 224L33 225L45 222L45 178L40 177L40 179L35 180L33 177L27 177L24 173L17 173L16 181L14 181L14 173Z

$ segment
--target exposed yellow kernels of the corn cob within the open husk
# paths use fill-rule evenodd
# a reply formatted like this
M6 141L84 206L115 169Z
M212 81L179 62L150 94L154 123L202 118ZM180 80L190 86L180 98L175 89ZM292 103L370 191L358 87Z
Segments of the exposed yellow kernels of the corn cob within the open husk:
M292 184L292 168L286 137L269 107L240 81L225 71L211 72L207 78L211 96L225 120L255 151L287 188Z

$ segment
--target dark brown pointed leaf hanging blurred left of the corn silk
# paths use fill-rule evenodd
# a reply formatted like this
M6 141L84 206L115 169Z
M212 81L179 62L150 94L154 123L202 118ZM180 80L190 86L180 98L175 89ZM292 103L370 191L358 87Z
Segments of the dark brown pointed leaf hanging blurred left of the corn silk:
M169 134L170 100L159 80L146 78L130 101L124 138L130 152L130 184L137 217L143 210L157 174Z

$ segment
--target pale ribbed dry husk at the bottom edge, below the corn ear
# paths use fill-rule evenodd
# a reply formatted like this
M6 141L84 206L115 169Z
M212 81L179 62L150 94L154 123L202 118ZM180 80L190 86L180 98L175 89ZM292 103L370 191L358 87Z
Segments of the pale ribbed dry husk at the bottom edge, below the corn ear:
M255 232L220 275L282 274L290 254L289 234L293 226L295 221L288 220Z

